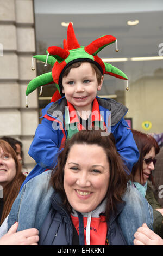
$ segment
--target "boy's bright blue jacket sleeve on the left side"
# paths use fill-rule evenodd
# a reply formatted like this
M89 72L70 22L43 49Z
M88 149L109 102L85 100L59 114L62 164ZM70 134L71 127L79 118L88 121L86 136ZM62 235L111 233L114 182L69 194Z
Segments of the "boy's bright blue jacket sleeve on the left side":
M42 168L52 169L56 163L64 134L56 122L43 118L29 148L29 156Z

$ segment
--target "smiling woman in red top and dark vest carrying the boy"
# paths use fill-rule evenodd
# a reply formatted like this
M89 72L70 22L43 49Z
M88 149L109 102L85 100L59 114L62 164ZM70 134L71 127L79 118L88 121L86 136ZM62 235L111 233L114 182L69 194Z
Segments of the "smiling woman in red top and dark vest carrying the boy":
M68 212L74 229L73 239L79 240L80 245L110 243L110 224L116 233L115 243L126 244L117 224L129 179L123 168L112 135L101 136L101 130L83 130L67 141L51 184L63 202L59 211L66 209ZM53 216L54 209L49 216ZM40 233L41 245L47 244L47 240L50 243L46 230L52 229L52 225L49 226L47 220L48 217Z

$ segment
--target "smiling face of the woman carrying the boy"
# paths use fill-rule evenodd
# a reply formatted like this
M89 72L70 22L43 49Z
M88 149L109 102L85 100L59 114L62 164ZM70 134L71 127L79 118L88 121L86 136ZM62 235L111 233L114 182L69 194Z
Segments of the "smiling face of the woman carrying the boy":
M104 199L109 186L109 162L96 144L74 144L64 169L64 189L74 210L90 212Z

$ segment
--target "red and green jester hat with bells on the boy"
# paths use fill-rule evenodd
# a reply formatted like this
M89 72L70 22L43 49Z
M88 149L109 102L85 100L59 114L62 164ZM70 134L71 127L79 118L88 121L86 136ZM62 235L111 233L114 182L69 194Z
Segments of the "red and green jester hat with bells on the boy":
M57 91L54 93L52 101L55 102L57 99L61 98L63 96L62 74L68 66L78 61L87 61L96 64L99 70L101 70L102 75L108 74L115 76L116 78L128 80L126 74L124 74L120 69L109 63L103 62L102 59L97 56L97 53L104 47L115 42L116 51L118 51L117 40L112 35L103 35L103 37L96 39L87 46L80 46L74 33L72 23L70 22L67 29L67 40L64 39L63 49L61 47L52 46L48 47L46 51L47 55L33 56L33 58L45 62L45 67L48 63L53 68L52 72L37 76L29 82L26 90L26 96L40 86L42 89L42 86L44 85L55 83ZM32 69L34 70L33 67Z

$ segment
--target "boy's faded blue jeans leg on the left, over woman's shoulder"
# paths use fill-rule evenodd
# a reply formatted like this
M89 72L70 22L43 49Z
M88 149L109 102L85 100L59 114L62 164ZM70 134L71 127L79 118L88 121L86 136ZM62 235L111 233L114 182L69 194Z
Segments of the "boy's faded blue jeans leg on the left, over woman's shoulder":
M8 229L17 221L17 231L28 228L41 230L51 206L50 197L54 192L48 186L50 177L51 171L46 171L23 186L9 213Z

